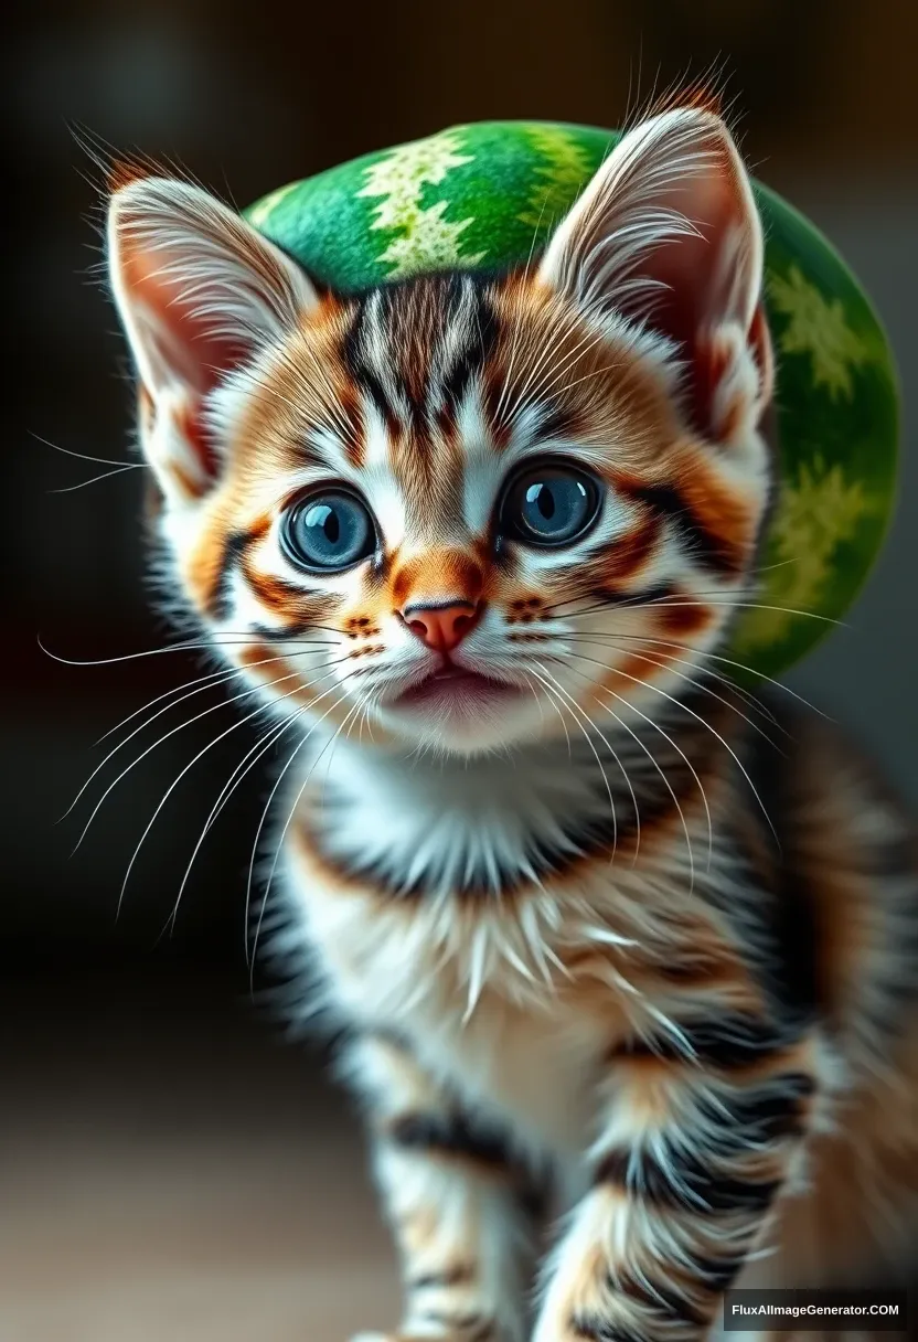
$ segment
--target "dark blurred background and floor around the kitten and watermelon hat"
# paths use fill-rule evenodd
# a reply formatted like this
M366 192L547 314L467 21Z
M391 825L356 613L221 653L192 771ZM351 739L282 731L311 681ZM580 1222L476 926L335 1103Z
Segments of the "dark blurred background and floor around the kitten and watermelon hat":
M918 803L918 11L901 0L44 0L13 11L4 211L11 424L0 459L0 1342L341 1342L391 1325L395 1268L346 1103L321 1051L285 1043L243 956L252 738L164 790L231 706L153 729L93 778L146 701L199 674L145 590L132 393L94 267L98 174L71 127L170 156L239 204L458 121L620 122L656 82L729 75L748 158L872 294L906 391L902 501L851 628L790 678L851 723ZM42 442L42 440L47 440ZM185 714L217 705L189 701ZM140 719L134 719L140 721ZM160 731L181 721L164 715ZM133 725L133 723L132 723ZM136 749L137 747L137 749ZM263 981L258 989L267 986Z

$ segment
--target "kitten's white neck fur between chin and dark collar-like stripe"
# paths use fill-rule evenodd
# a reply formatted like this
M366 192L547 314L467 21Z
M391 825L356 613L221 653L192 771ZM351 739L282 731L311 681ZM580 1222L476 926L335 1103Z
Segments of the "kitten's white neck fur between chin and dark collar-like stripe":
M572 730L569 743L470 758L340 739L315 766L299 823L337 864L393 894L503 892L576 854L627 847L639 827L678 815L679 797L698 803L719 746L710 718L710 705L702 721L686 702L666 726Z

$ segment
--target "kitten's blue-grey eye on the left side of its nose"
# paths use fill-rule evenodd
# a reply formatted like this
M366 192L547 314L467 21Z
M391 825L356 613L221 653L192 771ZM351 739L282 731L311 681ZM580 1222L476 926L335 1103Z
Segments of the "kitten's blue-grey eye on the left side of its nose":
M341 573L376 549L370 511L356 494L326 488L295 503L280 531L287 558L302 569Z

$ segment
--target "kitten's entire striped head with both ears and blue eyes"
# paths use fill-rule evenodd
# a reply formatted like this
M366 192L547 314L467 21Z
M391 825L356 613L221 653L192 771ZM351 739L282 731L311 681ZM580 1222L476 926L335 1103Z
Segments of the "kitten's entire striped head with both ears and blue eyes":
M713 113L629 132L509 274L319 293L157 176L109 259L176 581L282 711L459 753L608 729L748 595L772 360Z

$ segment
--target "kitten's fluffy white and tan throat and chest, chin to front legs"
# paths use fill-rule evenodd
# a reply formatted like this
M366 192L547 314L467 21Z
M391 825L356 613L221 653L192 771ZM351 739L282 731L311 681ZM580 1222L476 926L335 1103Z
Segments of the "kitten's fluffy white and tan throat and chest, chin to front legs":
M682 827L635 860L625 815L566 747L468 768L345 753L287 841L329 1005L408 1036L534 1151L581 1151L599 1064L668 1009L655 956L698 935ZM586 836L607 829L591 856Z

